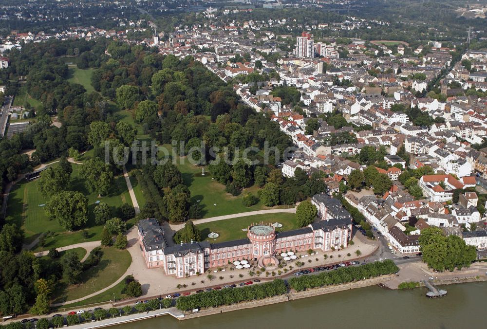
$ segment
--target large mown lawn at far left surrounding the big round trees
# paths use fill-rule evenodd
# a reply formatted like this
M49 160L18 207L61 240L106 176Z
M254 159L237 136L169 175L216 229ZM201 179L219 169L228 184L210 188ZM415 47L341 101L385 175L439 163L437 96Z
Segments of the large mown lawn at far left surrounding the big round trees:
M39 233L48 231L50 235L46 237L44 246L37 246L34 251L47 250L52 247L63 247L84 241L94 241L100 239L102 226L94 224L93 209L95 201L106 202L113 209L123 203L132 204L125 179L122 175L115 177L114 183L109 194L98 198L97 193L89 193L82 179L79 177L80 165L73 165L71 188L79 191L88 197L88 222L85 229L88 238L84 238L82 231L66 232L56 220L49 219L44 213L44 207L48 199L41 195L37 190L37 181L16 184L12 189L7 205L7 221L16 222L25 232L25 243L31 242Z

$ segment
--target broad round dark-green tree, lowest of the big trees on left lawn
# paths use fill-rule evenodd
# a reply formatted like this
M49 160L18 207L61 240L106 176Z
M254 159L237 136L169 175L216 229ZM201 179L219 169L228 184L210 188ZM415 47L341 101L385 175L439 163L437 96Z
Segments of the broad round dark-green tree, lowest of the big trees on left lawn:
M68 231L84 225L88 221L88 198L80 192L63 191L55 194L45 207L48 216L57 219Z

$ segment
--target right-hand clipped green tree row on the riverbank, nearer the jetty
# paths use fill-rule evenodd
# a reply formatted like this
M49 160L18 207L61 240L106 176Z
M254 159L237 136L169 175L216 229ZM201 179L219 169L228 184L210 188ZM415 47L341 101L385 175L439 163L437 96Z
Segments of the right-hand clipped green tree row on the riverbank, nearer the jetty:
M300 275L288 280L289 287L297 292L309 288L332 286L397 273L399 268L390 259L360 266L340 267L318 275Z

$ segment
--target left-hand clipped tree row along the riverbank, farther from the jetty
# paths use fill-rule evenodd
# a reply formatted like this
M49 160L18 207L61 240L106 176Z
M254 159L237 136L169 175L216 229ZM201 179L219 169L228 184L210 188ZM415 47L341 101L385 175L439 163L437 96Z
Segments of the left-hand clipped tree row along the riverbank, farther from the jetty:
M198 294L181 296L176 301L176 307L182 311L193 309L231 305L243 301L263 299L279 296L286 293L286 284L281 279L275 279L256 285L248 285L242 288L224 288Z

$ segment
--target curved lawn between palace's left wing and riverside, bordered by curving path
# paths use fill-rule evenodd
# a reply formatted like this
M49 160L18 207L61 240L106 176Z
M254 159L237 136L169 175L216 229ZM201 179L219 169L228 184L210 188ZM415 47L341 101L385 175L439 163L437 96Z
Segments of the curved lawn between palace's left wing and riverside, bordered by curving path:
M81 283L67 286L61 294L55 297L55 303L81 298L110 286L118 280L129 268L132 258L127 250L114 247L102 248L103 256L98 265L81 274Z

